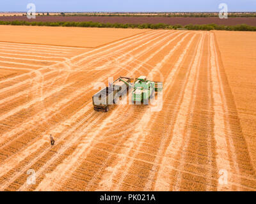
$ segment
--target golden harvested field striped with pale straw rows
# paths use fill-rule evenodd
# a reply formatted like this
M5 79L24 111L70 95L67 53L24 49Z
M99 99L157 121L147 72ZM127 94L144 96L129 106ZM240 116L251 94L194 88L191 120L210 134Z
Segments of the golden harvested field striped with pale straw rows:
M0 43L1 191L256 190L255 34L136 31L90 49ZM93 110L95 83L140 75L163 80L161 111Z

